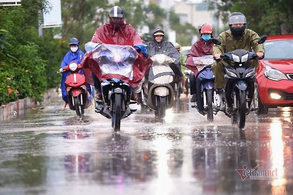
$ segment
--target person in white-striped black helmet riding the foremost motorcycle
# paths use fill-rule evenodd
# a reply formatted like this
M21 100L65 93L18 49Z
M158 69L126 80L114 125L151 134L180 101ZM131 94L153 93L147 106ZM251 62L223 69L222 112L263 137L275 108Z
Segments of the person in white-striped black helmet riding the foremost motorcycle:
M139 34L131 26L131 24L124 21L124 11L119 6L113 6L109 11L109 23L105 23L99 28L96 29L95 34L93 35L91 42L93 43L105 43L105 44L115 44L115 45L130 45L134 46L138 52L145 54L146 47L142 44L143 40L140 38ZM89 69L86 56L83 60L83 68L85 74L91 74L94 86L96 88L97 96L96 99L102 99L101 92L101 81L92 71ZM135 74L134 74L135 77ZM132 89L132 100L137 100L137 93L141 90L141 84Z

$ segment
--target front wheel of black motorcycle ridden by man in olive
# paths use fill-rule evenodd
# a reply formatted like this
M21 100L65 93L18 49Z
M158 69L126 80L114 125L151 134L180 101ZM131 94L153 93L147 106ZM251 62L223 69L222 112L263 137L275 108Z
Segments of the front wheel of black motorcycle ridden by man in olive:
M246 93L244 90L239 90L237 94L237 124L239 129L243 129L245 127L246 120Z

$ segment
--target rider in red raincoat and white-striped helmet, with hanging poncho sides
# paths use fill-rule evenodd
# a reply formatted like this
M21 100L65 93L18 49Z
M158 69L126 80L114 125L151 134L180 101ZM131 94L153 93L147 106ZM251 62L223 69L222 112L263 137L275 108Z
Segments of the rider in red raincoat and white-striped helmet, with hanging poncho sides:
M133 79L129 83L133 88L131 99L137 100L137 95L141 90L141 80L149 69L152 60L147 58L146 47L142 45L143 40L131 26L124 21L124 12L121 7L113 6L109 11L109 23L100 26L93 35L91 42L106 43L115 45L130 45L137 49L139 58L133 64ZM96 62L92 59L92 53L85 54L82 61L87 83L94 85L97 91L97 99L102 99L100 73L97 71ZM100 78L101 79L101 78Z

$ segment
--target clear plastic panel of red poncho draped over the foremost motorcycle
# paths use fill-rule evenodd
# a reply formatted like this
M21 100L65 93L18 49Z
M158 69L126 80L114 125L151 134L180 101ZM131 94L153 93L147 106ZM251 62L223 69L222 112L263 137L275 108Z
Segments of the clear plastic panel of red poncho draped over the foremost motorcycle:
M92 58L105 75L121 75L129 80L133 78L133 63L138 53L129 45L101 44L92 51Z

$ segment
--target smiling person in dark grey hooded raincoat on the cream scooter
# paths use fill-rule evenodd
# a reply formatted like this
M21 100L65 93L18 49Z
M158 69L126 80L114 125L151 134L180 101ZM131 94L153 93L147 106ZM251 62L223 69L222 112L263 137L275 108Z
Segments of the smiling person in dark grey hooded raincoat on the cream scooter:
M180 57L178 51L175 49L174 45L171 42L165 41L163 28L155 28L152 35L152 40L146 42L146 53L149 55L149 57L152 57L156 54L165 54L170 58L174 58L175 61L170 64L170 68L175 74L174 82L178 83L183 76L180 67Z

